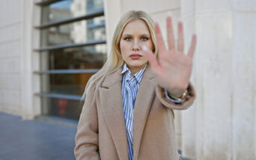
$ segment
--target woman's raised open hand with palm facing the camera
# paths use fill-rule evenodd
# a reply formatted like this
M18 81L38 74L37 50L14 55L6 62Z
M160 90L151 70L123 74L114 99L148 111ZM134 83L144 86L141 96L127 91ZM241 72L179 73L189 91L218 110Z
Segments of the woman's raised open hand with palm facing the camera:
M143 47L157 83L168 92L179 97L189 84L192 71L193 54L196 48L196 35L193 34L188 54L184 54L183 24L178 22L178 48L175 48L175 39L172 33L172 18L167 16L167 39L169 48L166 49L160 27L156 22L154 25L158 47L158 61L152 51Z

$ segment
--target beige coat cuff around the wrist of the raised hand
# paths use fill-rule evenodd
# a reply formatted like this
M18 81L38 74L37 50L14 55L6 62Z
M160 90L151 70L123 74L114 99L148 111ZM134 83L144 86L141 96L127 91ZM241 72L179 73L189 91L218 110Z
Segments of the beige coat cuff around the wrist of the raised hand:
M186 100L183 103L174 103L165 97L163 88L161 88L160 86L157 86L157 89L156 89L157 98L160 100L160 102L164 106L166 106L169 109L178 109L178 110L187 109L193 104L193 101L196 98L196 93L191 83L188 86L188 92L189 92L189 95L186 96Z

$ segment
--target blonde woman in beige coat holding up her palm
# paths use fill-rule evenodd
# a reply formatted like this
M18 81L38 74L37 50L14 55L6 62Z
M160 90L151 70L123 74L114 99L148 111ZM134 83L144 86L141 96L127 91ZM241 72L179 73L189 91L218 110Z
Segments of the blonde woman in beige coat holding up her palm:
M87 83L76 159L179 159L172 109L187 109L195 98L189 79L196 36L185 55L182 23L177 50L170 16L167 32L169 49L149 15L122 16L110 57Z

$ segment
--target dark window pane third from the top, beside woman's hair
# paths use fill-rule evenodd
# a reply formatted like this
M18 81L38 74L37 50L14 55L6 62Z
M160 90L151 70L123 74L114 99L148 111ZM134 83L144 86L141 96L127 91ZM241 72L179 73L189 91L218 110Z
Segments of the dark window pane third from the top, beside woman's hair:
M102 68L107 57L106 50L106 44L102 44L43 52L41 70Z

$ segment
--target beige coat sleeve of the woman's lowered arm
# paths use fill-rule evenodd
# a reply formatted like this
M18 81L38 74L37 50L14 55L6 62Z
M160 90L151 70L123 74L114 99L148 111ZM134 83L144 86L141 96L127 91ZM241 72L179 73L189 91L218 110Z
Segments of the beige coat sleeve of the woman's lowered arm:
M94 90L94 89L93 89ZM98 112L94 91L85 97L75 136L75 159L99 160ZM94 98L96 99L96 98Z

